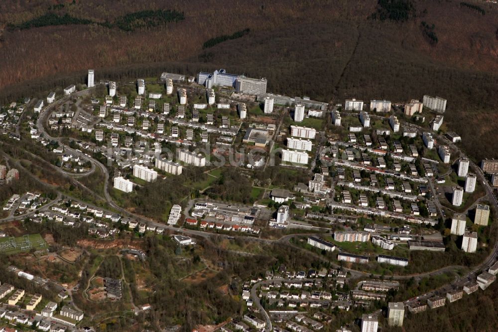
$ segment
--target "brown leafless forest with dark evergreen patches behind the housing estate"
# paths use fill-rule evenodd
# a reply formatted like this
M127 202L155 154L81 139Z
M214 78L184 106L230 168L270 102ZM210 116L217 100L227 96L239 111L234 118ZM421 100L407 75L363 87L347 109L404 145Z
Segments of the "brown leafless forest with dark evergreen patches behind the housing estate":
M440 95L466 150L498 158L497 22L498 5L478 0L5 0L0 101L84 82L88 68L97 79L226 68L323 101Z

